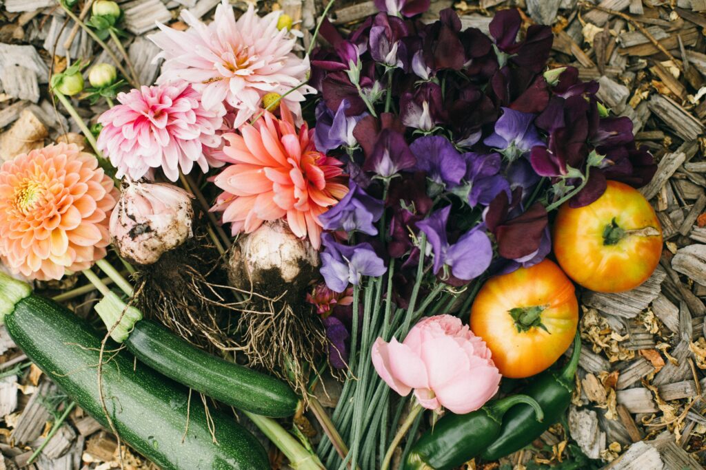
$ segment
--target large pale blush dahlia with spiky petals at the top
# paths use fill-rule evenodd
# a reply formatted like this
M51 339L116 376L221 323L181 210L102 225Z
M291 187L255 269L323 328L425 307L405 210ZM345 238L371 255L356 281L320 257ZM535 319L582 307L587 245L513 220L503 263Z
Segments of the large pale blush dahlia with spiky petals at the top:
M302 59L292 52L297 39L287 28L277 28L280 15L282 11L273 11L261 18L251 4L236 20L233 7L223 0L213 22L205 25L182 10L189 30L159 25L161 32L150 35L164 58L157 83L191 83L203 94L206 109L222 110L224 104L237 109L234 128L239 128L259 112L265 94L285 94L309 72L309 57ZM314 91L304 85L282 98L297 123L301 122L300 101Z

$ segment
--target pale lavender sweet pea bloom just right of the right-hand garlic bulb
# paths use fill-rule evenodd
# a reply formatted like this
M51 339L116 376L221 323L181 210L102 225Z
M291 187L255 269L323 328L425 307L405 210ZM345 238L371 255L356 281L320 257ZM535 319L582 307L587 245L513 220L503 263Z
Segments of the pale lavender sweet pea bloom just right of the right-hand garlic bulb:
M348 284L359 285L363 276L382 276L387 268L369 243L349 247L333 240L330 233L321 235L321 276L334 292L343 292Z

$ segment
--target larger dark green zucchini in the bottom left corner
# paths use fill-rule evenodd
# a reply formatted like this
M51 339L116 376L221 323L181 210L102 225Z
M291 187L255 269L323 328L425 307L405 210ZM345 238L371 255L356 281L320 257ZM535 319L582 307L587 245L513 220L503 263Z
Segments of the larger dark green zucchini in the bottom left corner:
M32 295L24 283L0 274L2 316L25 354L81 408L109 427L98 394L102 337L68 309ZM106 346L102 382L109 415L126 443L164 470L270 468L262 445L245 428L213 410L217 444L213 443L201 400L193 400L189 407L185 388L136 366L126 351L112 357L110 350L116 347L112 341Z

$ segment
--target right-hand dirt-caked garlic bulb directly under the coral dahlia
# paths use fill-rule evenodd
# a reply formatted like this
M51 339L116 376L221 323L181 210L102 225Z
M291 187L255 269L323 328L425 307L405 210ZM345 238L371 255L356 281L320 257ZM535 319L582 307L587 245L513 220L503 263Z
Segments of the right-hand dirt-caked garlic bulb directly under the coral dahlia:
M233 245L228 279L233 287L277 296L288 290L296 295L309 285L318 253L282 221L265 222ZM279 292L277 292L277 290Z

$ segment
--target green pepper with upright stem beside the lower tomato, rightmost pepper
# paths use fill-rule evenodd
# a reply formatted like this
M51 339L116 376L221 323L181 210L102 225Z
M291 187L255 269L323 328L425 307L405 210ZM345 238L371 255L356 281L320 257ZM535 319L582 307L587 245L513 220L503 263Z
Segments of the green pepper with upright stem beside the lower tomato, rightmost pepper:
M537 400L542 407L544 421L540 423L534 418L532 407L524 404L514 407L505 414L500 436L481 453L483 459L497 460L517 452L539 438L549 429L549 426L561 420L571 402L580 351L581 338L577 332L574 350L566 366L561 371L546 371L539 374L525 390L522 390L522 393Z

